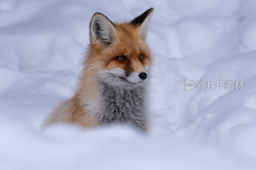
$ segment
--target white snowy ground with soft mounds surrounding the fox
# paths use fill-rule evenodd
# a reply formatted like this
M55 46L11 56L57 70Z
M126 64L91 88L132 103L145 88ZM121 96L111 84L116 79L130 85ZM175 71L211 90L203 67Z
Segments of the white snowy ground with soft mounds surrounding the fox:
M40 130L72 95L93 13L154 7L154 127ZM255 169L256 1L0 0L0 169ZM185 81L244 81L185 90Z

